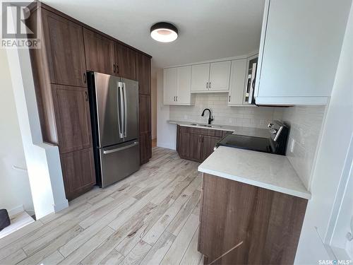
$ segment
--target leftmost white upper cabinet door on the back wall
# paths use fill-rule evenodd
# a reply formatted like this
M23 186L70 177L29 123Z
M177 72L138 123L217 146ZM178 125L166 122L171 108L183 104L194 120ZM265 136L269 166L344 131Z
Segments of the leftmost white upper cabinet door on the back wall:
M163 70L163 103L174 104L177 97L177 68Z

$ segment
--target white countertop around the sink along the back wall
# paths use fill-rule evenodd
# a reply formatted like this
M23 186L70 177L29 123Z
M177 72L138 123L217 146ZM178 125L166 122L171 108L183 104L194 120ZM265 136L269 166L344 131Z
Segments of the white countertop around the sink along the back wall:
M202 124L200 122L182 122L169 120L170 124L178 124L180 126L211 129L211 130L221 130L221 131L233 131L233 134L246 135L246 136L256 136L256 137L269 137L270 132L268 129L260 128L251 128L251 127L241 127L241 126L232 126L232 125L223 125L223 124L211 124L216 127L207 127L207 126L196 126L193 124Z

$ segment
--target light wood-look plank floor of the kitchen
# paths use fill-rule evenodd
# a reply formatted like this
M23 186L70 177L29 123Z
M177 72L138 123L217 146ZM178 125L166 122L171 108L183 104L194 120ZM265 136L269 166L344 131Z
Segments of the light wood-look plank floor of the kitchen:
M130 177L0 239L0 264L202 264L197 167L153 148Z

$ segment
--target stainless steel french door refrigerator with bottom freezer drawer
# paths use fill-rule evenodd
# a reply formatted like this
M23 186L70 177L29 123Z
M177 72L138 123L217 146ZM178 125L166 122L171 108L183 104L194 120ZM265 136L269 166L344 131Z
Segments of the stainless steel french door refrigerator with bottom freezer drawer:
M138 82L88 73L97 183L107 187L140 167Z

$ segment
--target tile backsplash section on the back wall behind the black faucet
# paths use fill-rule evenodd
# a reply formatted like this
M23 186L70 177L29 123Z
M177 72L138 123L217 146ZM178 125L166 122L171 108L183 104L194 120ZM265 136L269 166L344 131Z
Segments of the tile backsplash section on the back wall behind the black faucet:
M229 107L227 93L199 93L194 95L194 106L170 106L169 118L178 121L208 122L208 112L201 117L203 109L212 111L214 124L267 128L276 107ZM280 108L282 109L282 108Z

